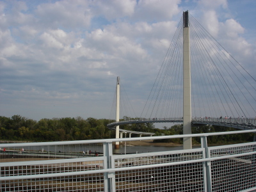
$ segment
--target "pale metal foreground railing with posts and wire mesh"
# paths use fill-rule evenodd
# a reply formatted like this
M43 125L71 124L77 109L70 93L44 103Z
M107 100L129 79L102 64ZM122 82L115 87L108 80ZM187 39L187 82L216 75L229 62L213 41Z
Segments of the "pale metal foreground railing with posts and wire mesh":
M207 146L209 136L248 132L0 144L1 191L251 191L256 142ZM201 147L113 154L115 141L186 137Z

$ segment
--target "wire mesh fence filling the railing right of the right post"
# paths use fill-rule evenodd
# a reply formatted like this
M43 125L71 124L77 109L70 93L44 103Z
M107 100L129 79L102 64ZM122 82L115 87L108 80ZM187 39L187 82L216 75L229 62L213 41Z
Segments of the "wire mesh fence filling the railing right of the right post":
M211 148L211 156L231 156L255 152L256 145L230 145ZM227 157L211 162L212 191L242 191L256 187L256 155Z

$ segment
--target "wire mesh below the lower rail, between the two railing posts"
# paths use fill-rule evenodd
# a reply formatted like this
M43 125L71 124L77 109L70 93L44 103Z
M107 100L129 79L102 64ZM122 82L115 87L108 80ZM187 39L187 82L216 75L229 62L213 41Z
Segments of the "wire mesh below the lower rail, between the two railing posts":
M202 163L116 172L116 191L205 191Z

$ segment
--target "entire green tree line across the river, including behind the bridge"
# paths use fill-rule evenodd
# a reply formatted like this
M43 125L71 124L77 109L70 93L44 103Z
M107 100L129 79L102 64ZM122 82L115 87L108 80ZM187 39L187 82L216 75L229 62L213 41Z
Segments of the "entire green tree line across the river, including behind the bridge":
M131 119L124 116L122 120ZM42 118L32 120L20 115L10 117L0 116L0 140L10 141L71 141L71 140L98 140L115 138L115 130L108 129L107 125L115 120L96 118ZM158 129L152 123L125 124L120 129L140 132L154 132L155 136L174 135L183 133L183 125L164 126ZM192 127L192 133L234 131L229 127L202 125ZM138 136L138 135L132 135ZM209 144L236 143L253 141L253 134L232 134L211 136ZM182 144L182 139L156 140L156 142L173 142ZM200 143L200 138L193 138L193 144Z

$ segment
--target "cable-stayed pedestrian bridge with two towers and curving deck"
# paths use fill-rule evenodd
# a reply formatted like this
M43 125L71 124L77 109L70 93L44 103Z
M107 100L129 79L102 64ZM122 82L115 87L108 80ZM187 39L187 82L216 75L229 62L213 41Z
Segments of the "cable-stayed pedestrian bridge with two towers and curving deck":
M243 64L193 16L184 12L163 63L157 66L159 72L152 89L148 90L145 105L134 104L140 115L134 113L124 97L127 93L122 92L118 77L116 116L109 118L116 122L108 127L116 127L116 138L119 125L136 123L179 122L183 124L184 134L191 134L193 124L255 129L256 73L249 73L250 68L254 70L254 63L239 59ZM145 88L138 88L138 92L143 95ZM123 121L120 116L132 120L123 118ZM211 118L195 119L195 116ZM223 118L212 118L216 116ZM191 140L184 142L184 148L191 148Z

